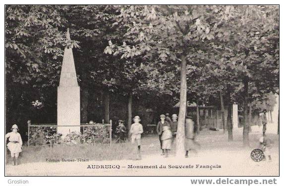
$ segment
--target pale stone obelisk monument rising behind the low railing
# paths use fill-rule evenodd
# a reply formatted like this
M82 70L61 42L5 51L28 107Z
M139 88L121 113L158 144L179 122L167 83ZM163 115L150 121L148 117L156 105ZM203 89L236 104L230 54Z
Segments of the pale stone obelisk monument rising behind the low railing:
M70 39L69 29L66 37ZM57 132L65 136L72 131L80 132L80 87L77 82L73 52L70 47L65 47L60 74L60 82L57 87Z

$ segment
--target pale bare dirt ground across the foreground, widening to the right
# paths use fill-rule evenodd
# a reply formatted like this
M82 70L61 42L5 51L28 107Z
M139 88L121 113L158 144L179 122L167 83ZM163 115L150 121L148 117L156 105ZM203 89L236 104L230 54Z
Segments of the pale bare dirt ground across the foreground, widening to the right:
M222 136L221 132L217 136L216 133L201 134L198 140L204 145L198 153L191 153L189 158L176 159L173 154L169 158L164 158L157 152L149 155L147 145L143 145L142 160L139 161L39 162L19 166L7 165L5 171L7 176L278 176L279 136L269 134L276 141L271 150L273 161L254 162L250 159L250 152L257 144L255 140L259 136L259 129L253 128L250 133L251 147L246 149L240 145L241 135L238 135L240 132L235 131L235 141L231 143L226 141L225 134ZM106 165L114 168L88 168L88 166ZM166 168L160 168L161 165ZM188 167L175 167L183 165ZM138 166L153 166L153 168L134 168ZM202 166L211 166L211 169Z

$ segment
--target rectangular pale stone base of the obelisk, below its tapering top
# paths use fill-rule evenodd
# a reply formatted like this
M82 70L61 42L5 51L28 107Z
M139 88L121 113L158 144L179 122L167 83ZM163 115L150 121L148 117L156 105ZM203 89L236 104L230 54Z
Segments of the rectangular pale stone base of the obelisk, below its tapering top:
M80 132L80 87L57 87L57 132ZM61 126L61 127L60 127Z

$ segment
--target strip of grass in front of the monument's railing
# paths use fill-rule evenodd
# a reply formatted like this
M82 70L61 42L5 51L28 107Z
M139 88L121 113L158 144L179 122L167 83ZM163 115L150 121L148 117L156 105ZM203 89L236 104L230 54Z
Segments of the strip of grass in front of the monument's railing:
M46 159L89 159L89 160L122 160L128 159L133 151L130 143L104 145L58 145L54 147L23 147L20 153L21 163L46 162ZM10 153L7 153L10 159Z

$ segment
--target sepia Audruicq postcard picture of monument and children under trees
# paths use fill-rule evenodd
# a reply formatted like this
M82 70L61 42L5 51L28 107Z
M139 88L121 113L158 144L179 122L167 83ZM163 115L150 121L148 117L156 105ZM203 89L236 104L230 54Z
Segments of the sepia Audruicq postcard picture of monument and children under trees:
M279 11L5 5L5 176L278 177Z

